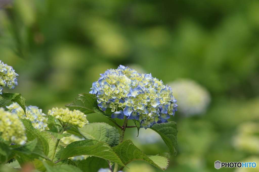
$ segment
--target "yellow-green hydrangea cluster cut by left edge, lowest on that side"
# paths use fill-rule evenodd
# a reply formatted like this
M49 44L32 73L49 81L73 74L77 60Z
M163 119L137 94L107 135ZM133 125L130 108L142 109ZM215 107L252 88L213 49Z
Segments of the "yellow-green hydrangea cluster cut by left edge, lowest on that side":
M25 127L15 114L0 108L0 136L5 141L24 144L27 140Z

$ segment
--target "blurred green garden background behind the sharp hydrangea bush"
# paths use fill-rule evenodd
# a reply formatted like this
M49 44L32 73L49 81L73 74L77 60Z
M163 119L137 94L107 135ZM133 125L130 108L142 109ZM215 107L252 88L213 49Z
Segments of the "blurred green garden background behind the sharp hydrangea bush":
M139 137L128 129L127 137L148 155L169 157L168 172L216 171L217 160L259 166L259 1L0 0L0 7L0 60L19 74L19 85L4 90L21 93L26 105L44 113L64 107L119 65L164 83L192 79L211 103L201 115L179 110L170 118L176 156L150 129ZM161 171L141 161L129 167Z

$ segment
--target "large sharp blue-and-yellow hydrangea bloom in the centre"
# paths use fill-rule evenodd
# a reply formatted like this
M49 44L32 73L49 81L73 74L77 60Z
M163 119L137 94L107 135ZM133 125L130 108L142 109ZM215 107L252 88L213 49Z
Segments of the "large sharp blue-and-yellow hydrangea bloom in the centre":
M125 115L127 119L140 120L141 127L148 128L167 122L177 111L172 89L151 73L140 74L120 65L100 75L90 93L97 96L98 106L103 111L111 108L112 118L123 119Z

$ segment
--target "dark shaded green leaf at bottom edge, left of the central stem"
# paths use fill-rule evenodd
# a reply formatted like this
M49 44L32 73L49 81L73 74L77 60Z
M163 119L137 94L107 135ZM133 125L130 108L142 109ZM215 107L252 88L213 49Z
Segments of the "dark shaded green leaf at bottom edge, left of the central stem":
M100 168L109 168L108 162L99 157L88 157L77 161L76 164L83 172L97 172Z

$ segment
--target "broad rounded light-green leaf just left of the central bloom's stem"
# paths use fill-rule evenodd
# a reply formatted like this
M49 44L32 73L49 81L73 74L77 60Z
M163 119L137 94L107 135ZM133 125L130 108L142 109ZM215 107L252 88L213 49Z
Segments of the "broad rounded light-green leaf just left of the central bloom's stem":
M111 147L119 144L119 131L107 123L90 123L85 125L83 128L78 129L85 139L96 139L98 141L106 142Z

